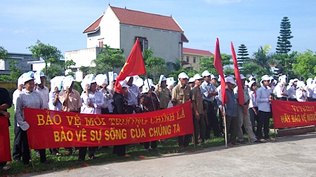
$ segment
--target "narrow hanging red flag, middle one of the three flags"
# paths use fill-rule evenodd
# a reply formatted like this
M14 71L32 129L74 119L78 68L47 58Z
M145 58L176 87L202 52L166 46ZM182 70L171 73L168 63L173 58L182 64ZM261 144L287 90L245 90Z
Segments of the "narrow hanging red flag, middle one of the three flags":
M227 103L227 97L226 97L226 89L225 89L225 76L223 71L223 65L222 65L222 57L220 57L220 48L219 48L219 41L218 38L216 38L216 45L215 45L215 52L214 52L214 66L220 75L220 87L222 92L222 106Z

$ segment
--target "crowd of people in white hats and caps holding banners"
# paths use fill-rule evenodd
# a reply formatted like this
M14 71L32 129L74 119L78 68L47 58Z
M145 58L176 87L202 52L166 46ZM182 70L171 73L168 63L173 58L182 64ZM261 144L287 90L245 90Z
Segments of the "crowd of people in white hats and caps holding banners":
M202 76L197 73L192 78L186 73L179 73L176 85L173 78L166 78L164 75L160 76L157 85L154 85L150 78L143 80L139 76L126 77L119 81L122 90L114 88L117 73L114 73L110 83L106 74L88 74L81 82L81 94L74 90L72 76L52 78L49 90L45 86L46 76L43 72L29 71L18 78L18 89L13 92L13 101L10 100L7 90L0 88L0 115L10 118L7 109L11 104L15 106L13 160L29 164L29 124L24 118L25 107L88 114L132 114L162 110L191 100L195 134L178 136L179 148L185 148L190 142L202 146L206 140L222 136L226 136L227 146L233 147L246 143L244 133L247 134L249 142L264 143L271 139L269 122L272 117L270 104L273 99L316 101L316 84L312 78L308 78L305 85L297 78L289 80L287 84L287 76L280 76L277 82L272 76L265 75L259 83L253 76L249 77L249 80L242 74L240 77L244 104L239 104L241 101L238 97L238 87L235 86L232 76L225 77L225 83L220 83L220 78L216 78L209 71L204 71ZM228 101L224 105L220 84L226 86ZM11 125L10 121L8 125ZM144 142L143 145L145 153L150 152L150 147L160 151L157 141ZM98 147L66 147L65 155L72 155L74 150L78 150L78 161L84 161L87 148L87 158L96 159L94 154ZM45 149L36 152L41 163L51 164L46 160ZM51 155L62 155L58 148L50 149L50 152ZM114 146L113 153L129 157L129 154L126 154L126 145ZM6 162L0 164L1 169L5 164Z

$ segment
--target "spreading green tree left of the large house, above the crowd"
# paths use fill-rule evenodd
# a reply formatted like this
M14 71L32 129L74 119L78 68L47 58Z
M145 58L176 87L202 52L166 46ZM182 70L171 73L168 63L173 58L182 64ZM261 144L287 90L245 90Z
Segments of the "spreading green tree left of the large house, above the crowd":
M46 76L51 75L48 73L48 64L60 64L60 59L63 59L62 52L55 46L41 43L37 40L36 45L27 47L32 52L33 57L41 58L45 62L44 73Z

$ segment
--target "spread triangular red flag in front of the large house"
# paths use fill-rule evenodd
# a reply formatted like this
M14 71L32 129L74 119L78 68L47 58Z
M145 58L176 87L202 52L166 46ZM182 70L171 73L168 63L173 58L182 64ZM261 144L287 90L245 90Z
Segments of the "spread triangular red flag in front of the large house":
M120 80L124 80L127 76L136 76L140 74L145 74L145 64L143 60L142 50L140 50L140 44L138 38L127 58L119 76L117 76L117 81L115 82L115 92L120 94L123 93L121 88L121 84L119 84Z

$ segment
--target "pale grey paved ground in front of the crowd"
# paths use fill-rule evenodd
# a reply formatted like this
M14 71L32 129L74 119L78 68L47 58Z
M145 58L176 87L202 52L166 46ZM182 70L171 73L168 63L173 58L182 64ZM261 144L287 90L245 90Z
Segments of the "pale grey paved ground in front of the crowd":
M195 153L25 176L316 176L316 132Z

